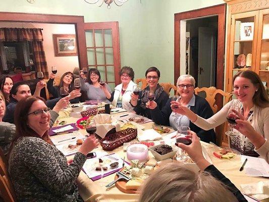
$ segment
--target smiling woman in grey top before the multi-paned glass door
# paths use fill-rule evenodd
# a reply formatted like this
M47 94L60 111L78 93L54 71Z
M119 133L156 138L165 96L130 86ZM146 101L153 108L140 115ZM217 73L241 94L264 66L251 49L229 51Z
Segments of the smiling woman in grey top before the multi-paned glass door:
M89 100L101 100L102 102L110 104L111 102L106 98L110 97L112 90L110 86L104 83L100 84L101 75L100 72L95 69L89 69L88 82L85 82L86 76L82 70L80 70L81 90L87 92L87 98Z

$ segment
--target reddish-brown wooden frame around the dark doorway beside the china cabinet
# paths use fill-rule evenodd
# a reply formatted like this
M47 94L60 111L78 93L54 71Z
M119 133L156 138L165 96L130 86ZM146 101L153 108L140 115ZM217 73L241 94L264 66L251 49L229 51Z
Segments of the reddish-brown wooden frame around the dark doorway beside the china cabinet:
M226 4L176 13L174 15L174 82L180 76L180 21L201 17L218 16L218 46L217 46L217 88L224 88L224 64L225 64L225 27L226 27Z

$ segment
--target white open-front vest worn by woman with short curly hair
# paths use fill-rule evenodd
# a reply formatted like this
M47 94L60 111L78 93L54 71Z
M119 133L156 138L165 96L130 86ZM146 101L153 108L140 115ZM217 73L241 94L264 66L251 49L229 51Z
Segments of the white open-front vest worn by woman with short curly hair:
M128 112L132 112L134 109L130 104L130 100L131 100L131 93L133 92L133 86L135 86L135 85L137 85L137 84L135 84L131 80L129 82L125 92L122 95L122 108L127 110ZM115 107L117 106L117 102L118 102L121 91L122 91L122 83L115 87L114 99L112 101L112 105Z

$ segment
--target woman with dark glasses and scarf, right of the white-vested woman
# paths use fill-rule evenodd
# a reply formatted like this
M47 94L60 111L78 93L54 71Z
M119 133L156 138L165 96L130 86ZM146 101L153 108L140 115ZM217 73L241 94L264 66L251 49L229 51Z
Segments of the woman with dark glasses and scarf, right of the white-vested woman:
M150 67L146 73L147 86L138 95L131 93L130 103L134 107L133 113L151 119L150 108L155 103L159 110L162 110L169 99L168 94L162 86L158 84L160 72L156 67ZM150 97L149 97L150 95ZM149 99L153 99L150 101Z

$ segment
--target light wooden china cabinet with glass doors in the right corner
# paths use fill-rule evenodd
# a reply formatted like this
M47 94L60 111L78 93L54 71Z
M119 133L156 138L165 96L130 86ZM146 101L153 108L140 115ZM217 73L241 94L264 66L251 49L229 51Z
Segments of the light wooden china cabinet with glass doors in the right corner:
M226 91L233 76L255 71L269 87L269 0L224 0L228 5Z

